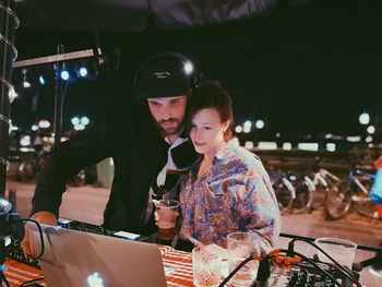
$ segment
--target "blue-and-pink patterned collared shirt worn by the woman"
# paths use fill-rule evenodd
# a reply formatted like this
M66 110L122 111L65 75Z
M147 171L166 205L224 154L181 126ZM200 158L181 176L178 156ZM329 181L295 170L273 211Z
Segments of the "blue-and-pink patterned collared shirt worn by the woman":
M249 231L261 236L263 249L272 247L280 216L259 157L234 139L215 154L212 168L195 179L198 168L199 163L182 180L180 238L224 247L229 232Z

